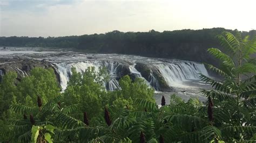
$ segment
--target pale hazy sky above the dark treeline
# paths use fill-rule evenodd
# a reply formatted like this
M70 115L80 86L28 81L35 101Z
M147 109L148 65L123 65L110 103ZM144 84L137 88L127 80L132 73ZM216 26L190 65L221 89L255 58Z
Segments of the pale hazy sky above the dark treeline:
M0 0L0 36L48 37L113 30L212 27L256 30L256 1Z

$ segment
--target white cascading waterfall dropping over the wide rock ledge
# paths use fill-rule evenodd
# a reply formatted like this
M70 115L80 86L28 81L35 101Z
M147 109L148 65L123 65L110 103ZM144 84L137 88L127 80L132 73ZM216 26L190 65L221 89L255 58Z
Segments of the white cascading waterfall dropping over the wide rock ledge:
M142 74L135 68L137 62L144 62L146 66L150 67L151 72L149 77L144 78ZM155 90L160 91L160 82L156 78L156 75L154 75L155 73L152 72L152 69L154 69L154 71L159 72L159 75L164 79L164 81L167 83L167 85L169 85L169 87L176 87L177 85L180 85L185 81L199 81L199 73L208 76L207 70L205 69L205 66L202 63L182 60L160 61L157 59L147 59L143 61L142 58L138 58L136 60L136 56L133 56L133 59L131 58L128 60L124 60L122 58L87 59L85 61L79 62L56 63L56 66L59 71L60 85L63 91L66 89L68 85L69 78L72 74L72 67L75 67L79 73L84 72L88 67L95 67L95 70L97 72L99 71L100 67L106 67L110 75L110 81L104 84L107 90L120 89L118 80L120 79L120 77L129 74L134 78L143 78L143 80L147 85L149 85L149 87L153 87ZM124 71L123 68L125 68Z

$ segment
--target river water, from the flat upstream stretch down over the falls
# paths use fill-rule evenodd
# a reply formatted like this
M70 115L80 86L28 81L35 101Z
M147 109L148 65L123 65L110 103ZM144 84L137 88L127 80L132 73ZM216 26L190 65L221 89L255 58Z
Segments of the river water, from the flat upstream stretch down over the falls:
M120 89L118 80L123 74L129 73L130 77L143 78L149 87L156 90L155 97L157 102L160 102L161 95L164 95L168 103L171 94L177 94L185 100L190 97L196 97L204 101L205 98L200 94L200 88L209 88L209 85L200 82L198 77L199 73L209 76L205 66L202 63L193 61L146 58L143 56L122 54L84 54L62 51L60 49L56 51L44 51L40 48L19 48L19 51L17 51L17 48L16 50L14 48L9 48L8 50L0 48L0 55L3 58L17 58L19 56L38 60L44 59L52 62L58 70L60 86L63 91L66 89L69 78L72 75L72 67L76 68L80 73L84 72L88 67L95 67L96 71L99 71L100 67L106 67L110 75L110 81L105 83L107 90ZM149 77L143 77L135 68L137 63L143 63L150 68ZM174 88L174 91L159 92L161 91L161 85L156 73L152 70L157 71L164 78L167 85ZM24 71L21 71L21 73L22 76L26 75Z

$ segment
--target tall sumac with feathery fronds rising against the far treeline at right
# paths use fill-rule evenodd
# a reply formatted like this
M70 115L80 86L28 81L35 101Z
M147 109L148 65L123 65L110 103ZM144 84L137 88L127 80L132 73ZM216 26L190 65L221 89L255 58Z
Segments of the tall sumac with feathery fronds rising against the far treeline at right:
M216 90L224 91L227 94L237 96L237 105L240 98L248 98L255 95L255 89L250 87L256 74L256 61L253 54L256 52L256 38L249 40L249 36L241 38L241 33L235 35L229 32L223 32L218 35L221 46L225 48L226 53L217 48L210 48L208 52L219 59L221 64L217 68L213 65L207 65L220 76L223 76L223 82L215 82L203 75L203 80L214 85ZM249 80L249 81L248 81Z

